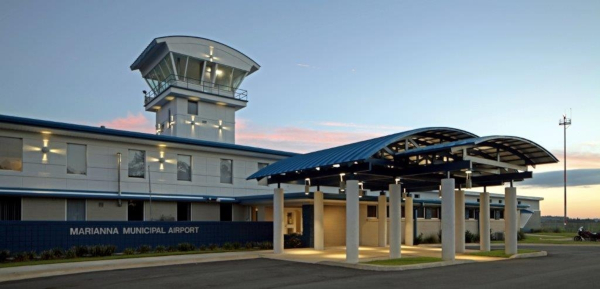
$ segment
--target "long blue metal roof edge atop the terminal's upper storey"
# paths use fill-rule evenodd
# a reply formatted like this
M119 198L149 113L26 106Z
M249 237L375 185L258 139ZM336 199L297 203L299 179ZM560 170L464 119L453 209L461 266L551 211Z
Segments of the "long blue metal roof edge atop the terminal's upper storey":
M8 115L0 115L0 123L11 123L11 124L49 128L49 129L60 129L60 130L103 134L103 135L118 136L118 137L145 139L145 140L152 140L152 141L158 141L158 142L170 142L170 143L197 145L197 146L212 147L212 148L231 149L231 150L264 153L264 154L286 156L286 157L297 155L297 153L292 153L292 152L263 149L263 148L244 146L244 145L195 140L195 139L190 139L190 138L182 138L182 137L174 137L174 136L166 136L166 135L154 135L154 134L149 134L149 133L116 130L116 129L110 129L110 128L100 128L100 127L93 127L93 126L86 126L86 125L79 125L79 124L54 122L54 121L8 116Z

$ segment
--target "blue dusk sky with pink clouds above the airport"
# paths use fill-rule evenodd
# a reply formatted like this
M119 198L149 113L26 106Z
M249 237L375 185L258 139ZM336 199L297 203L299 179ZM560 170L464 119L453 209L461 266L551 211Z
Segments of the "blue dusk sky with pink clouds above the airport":
M566 112L569 216L600 217L599 28L600 1L4 0L0 114L152 132L129 65L155 37L200 36L261 65L238 144L310 152L447 126L562 161ZM519 185L543 215L563 214L562 165Z

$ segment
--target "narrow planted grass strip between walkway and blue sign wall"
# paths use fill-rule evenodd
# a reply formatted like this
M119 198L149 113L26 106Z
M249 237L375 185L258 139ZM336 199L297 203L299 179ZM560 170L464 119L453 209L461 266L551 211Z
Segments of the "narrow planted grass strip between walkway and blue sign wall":
M44 265L44 264L58 264L58 263L101 261L101 260L130 259L130 258L174 256L174 255L209 254L209 253L225 253L225 252L249 252L249 251L257 251L257 250L254 250L254 249L214 250L214 251L195 250L195 251L187 251L187 252L163 252L163 253L145 253L145 254L134 254L134 255L113 255L113 256L106 256L106 257L81 257L81 258L73 258L73 259L34 260L34 261L26 261L26 262L0 263L0 268L30 266L30 265Z

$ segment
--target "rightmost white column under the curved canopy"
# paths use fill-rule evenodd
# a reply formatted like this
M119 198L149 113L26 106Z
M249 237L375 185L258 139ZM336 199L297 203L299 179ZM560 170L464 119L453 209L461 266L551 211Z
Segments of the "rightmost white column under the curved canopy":
M517 188L504 188L504 252L517 254Z

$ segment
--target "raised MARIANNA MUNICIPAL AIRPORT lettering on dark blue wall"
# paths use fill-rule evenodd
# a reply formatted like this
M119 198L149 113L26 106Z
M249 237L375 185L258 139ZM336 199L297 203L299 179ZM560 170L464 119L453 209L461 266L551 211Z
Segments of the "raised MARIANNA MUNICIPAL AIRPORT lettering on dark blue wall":
M105 227L69 228L71 236L86 235L154 235L154 234L197 234L200 227Z

